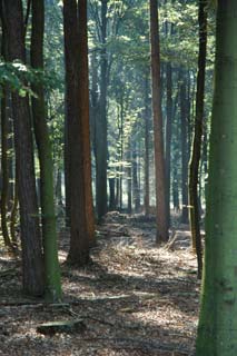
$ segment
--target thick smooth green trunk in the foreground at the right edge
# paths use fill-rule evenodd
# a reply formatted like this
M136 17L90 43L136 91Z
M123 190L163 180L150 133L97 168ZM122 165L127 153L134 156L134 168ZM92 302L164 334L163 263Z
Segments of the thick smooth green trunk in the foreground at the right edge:
M237 354L237 2L218 0L215 93L197 356Z

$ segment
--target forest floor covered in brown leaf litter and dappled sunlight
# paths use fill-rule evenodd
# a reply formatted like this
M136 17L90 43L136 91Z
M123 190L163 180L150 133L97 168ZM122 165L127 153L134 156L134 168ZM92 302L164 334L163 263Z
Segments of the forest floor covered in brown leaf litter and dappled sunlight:
M21 293L20 263L0 247L0 355L194 355L200 283L187 226L176 222L171 243L155 245L152 218L109 214L98 229L91 263L63 264L63 301ZM80 319L80 327L43 335L46 322Z

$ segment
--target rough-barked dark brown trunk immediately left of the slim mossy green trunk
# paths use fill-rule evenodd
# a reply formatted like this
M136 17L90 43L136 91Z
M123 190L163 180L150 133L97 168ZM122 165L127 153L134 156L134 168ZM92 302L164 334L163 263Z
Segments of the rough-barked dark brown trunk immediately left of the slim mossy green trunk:
M26 60L23 17L20 0L3 0L9 59ZM43 293L43 260L37 206L33 145L28 98L12 93L14 145L20 202L20 226L23 263L23 289L29 295Z

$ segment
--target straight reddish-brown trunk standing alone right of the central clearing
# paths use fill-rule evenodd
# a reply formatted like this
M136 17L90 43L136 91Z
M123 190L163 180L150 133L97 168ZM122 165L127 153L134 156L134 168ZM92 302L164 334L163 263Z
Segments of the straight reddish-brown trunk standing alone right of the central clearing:
M150 44L157 199L157 243L160 243L168 240L168 220L160 98L160 55L157 0L150 0Z

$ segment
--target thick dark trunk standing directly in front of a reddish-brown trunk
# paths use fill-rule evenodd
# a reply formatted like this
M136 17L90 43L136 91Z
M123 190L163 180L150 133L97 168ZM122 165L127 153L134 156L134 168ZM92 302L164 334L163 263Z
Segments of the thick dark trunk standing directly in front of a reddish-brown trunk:
M86 3L80 4L85 7ZM80 8L80 16L86 11ZM65 55L66 55L66 132L67 132L67 154L66 166L68 167L68 195L70 200L70 249L68 261L78 266L85 265L89 260L89 228L87 218L86 194L86 170L85 132L87 128L83 120L88 119L88 111L82 111L82 92L80 75L83 68L81 61L82 52L79 52L82 30L78 27L78 8L76 0L63 1L63 26L65 26ZM85 26L81 19L80 26ZM83 48L85 49L85 48ZM85 55L85 52L83 52ZM83 68L87 70L87 68ZM87 86L86 86L87 87ZM86 87L85 90L86 90ZM85 99L86 100L86 99ZM85 103L86 105L86 103ZM88 101L89 105L89 101ZM85 117L83 117L85 115ZM89 178L88 178L89 179Z

